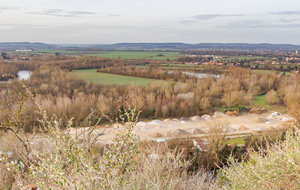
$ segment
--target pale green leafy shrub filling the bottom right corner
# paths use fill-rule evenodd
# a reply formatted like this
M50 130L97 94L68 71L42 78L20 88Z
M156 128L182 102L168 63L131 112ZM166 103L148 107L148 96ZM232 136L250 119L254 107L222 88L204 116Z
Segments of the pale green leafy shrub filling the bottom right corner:
M250 151L250 161L241 163L231 158L222 169L223 189L299 189L300 129L286 133L285 140L258 152Z

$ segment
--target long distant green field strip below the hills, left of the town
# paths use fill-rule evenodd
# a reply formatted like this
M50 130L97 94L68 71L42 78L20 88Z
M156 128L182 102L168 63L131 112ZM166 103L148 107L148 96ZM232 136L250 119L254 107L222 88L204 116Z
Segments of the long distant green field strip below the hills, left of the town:
M157 56L162 54L164 56ZM86 56L98 56L121 59L150 59L150 60L174 60L182 55L179 52L131 52L131 51L107 51L97 54L86 54Z

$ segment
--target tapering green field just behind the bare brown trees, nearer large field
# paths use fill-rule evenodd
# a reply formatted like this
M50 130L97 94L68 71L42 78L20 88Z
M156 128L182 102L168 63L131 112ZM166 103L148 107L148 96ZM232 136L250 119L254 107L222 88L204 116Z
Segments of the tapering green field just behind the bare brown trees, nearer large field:
M123 75L108 74L108 73L99 73L96 72L96 69L74 70L72 72L84 80L97 83L97 84L105 84L105 85L133 84L133 85L146 86L148 83L166 83L165 81L155 80L155 79L130 77L130 76L123 76Z

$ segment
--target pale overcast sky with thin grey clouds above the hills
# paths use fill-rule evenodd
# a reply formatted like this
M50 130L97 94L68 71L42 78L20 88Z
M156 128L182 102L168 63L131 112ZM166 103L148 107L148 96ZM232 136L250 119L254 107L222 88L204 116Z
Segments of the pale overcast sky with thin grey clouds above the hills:
M0 0L0 42L300 45L299 0Z

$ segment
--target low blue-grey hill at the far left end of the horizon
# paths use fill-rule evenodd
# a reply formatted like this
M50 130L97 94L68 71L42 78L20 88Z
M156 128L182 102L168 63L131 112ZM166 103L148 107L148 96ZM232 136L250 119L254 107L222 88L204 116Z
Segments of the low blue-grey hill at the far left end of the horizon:
M17 50L17 49L53 49L55 45L44 43L30 43L30 42L0 42L0 50Z

